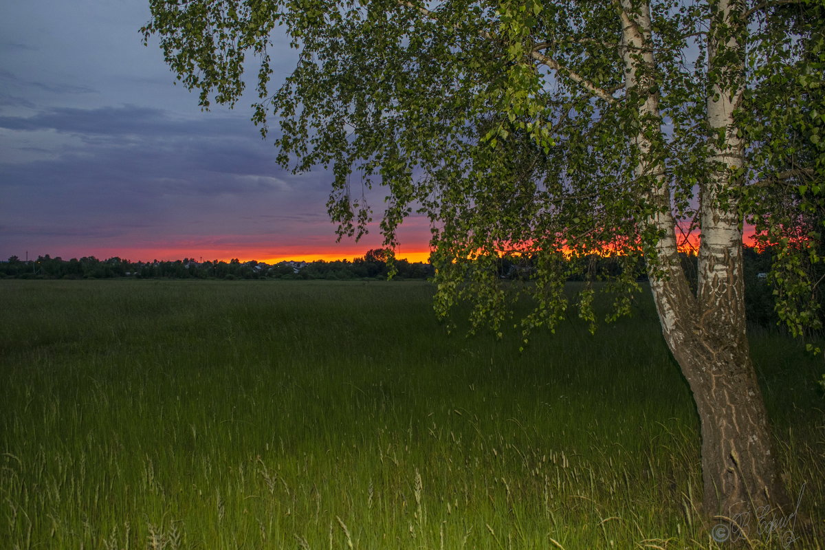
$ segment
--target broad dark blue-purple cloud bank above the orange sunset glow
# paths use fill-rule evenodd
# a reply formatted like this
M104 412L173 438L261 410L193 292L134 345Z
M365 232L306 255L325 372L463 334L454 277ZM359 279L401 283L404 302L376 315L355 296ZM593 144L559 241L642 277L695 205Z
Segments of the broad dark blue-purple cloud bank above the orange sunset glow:
M186 233L280 241L310 221L320 224L311 231L334 242L323 206L327 175L295 176L278 167L275 148L243 118L204 114L184 120L124 106L2 117L0 126L24 135L54 130L69 138L61 148L20 147L45 153L29 162L0 163L0 219L6 225L0 245L108 240L116 247ZM300 212L321 215L310 219Z

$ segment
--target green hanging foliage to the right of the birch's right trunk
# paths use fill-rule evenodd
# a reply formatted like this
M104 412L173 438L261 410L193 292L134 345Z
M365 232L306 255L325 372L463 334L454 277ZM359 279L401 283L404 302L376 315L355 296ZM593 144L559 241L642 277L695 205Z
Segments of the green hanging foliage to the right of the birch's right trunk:
M747 206L758 242L771 246L776 312L794 335L821 327L825 275L825 2L759 12L752 86L739 118L749 150Z

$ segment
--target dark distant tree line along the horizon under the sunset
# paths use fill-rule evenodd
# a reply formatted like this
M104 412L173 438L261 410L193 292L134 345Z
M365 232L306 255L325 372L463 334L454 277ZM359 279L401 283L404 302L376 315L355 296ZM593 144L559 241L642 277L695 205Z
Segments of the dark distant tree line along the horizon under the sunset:
M779 321L774 306L773 289L767 279L774 255L770 248L762 251L745 247L745 277L747 289L747 319L752 325L775 327ZM696 256L682 254L686 273L696 273ZM106 260L83 256L79 260L64 260L46 254L36 260L23 261L17 256L0 261L0 279L207 279L207 280L386 280L391 266L388 254L380 249L367 251L365 256L338 261L197 261L184 258L177 261L129 261L114 256ZM598 255L579 258L580 266L569 280L610 280L619 275L615 259ZM394 280L428 279L433 268L424 262L395 259ZM505 280L529 280L532 266L529 260L502 258L499 276ZM639 265L639 279L645 279ZM820 299L821 301L821 299Z

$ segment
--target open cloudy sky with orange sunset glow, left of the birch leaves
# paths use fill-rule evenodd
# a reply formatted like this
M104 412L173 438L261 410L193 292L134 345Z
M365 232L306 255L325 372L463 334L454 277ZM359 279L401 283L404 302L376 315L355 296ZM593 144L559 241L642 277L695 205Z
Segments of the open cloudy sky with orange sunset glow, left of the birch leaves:
M0 4L0 260L332 260L380 246L377 224L336 242L332 176L277 166L249 120L254 92L203 112L175 86L157 41L143 45L148 19L148 0ZM296 51L276 45L278 82ZM398 257L427 261L427 219L399 235Z

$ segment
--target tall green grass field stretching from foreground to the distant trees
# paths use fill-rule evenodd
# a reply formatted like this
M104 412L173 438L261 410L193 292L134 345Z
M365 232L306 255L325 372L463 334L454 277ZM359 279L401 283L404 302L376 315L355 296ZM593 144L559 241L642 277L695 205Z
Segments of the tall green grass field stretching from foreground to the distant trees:
M731 548L648 299L519 354L448 336L431 292L0 281L0 548ZM822 359L752 349L793 548L823 548Z

